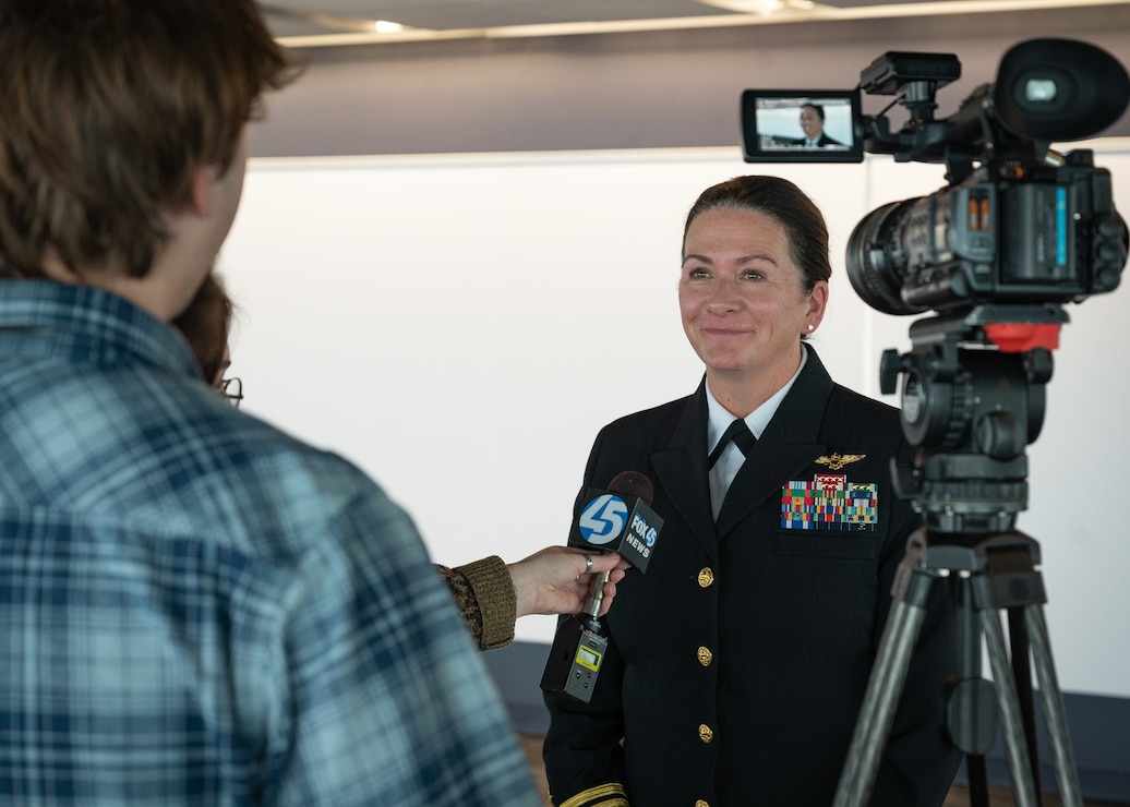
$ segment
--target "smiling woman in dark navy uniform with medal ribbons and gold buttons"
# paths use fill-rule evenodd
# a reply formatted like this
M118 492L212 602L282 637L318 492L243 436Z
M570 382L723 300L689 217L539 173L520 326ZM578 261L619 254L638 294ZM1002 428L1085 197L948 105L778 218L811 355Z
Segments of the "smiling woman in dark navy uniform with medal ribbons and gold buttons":
M645 474L663 529L605 618L591 702L546 697L550 793L568 807L829 805L921 524L889 478L890 458L913 449L897 410L834 383L803 344L831 264L823 216L796 185L707 189L683 252L683 326L705 378L592 448L582 497ZM751 436L723 437L732 424ZM953 637L933 587L875 805L946 797L959 762L942 730Z

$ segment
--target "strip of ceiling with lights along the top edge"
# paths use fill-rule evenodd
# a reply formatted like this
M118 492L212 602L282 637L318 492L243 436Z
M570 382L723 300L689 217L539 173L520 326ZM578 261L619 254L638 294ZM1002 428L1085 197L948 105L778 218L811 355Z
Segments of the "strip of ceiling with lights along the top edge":
M289 46L1123 6L1128 0L262 0ZM391 31L379 31L402 26Z

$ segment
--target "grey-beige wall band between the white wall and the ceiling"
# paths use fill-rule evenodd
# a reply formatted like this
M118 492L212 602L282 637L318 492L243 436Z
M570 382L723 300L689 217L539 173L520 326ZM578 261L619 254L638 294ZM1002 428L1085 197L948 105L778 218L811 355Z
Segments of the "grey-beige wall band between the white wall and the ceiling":
M938 115L948 116L994 79L1009 46L1038 36L1085 40L1127 61L1130 5L307 49L306 73L268 99L251 148L264 157L737 146L744 88L852 87L888 50L957 54L963 78L938 93ZM1104 134L1130 134L1130 115Z

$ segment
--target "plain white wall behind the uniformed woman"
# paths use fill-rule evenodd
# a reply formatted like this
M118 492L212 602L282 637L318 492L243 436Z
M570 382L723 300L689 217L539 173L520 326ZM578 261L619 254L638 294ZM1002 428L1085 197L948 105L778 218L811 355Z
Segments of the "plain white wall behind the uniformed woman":
M1093 145L1130 209L1130 142ZM879 354L910 347L912 318L855 296L844 244L879 203L939 189L942 168L679 149L252 160L219 263L242 307L245 406L372 474L438 562L564 543L597 429L702 373L676 303L686 209L759 170L827 216L832 306L814 345L838 381L880 397ZM1070 306L1019 519L1043 547L1061 686L1118 696L1130 696L1128 294ZM548 642L553 625L527 617L519 639Z

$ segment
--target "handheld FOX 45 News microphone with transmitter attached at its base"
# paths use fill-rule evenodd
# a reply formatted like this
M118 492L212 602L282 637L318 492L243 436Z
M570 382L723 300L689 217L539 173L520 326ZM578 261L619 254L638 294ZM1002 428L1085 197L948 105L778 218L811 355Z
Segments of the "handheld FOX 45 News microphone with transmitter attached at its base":
M568 545L617 552L641 573L646 572L663 528L663 520L651 509L653 493L651 479L636 471L617 474L607 491L589 491ZM583 703L592 698L608 647L598 615L609 574L594 575L584 611L558 625L541 675L545 692Z

